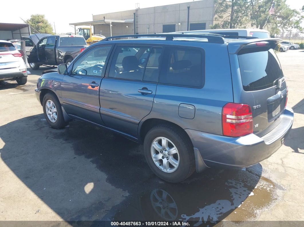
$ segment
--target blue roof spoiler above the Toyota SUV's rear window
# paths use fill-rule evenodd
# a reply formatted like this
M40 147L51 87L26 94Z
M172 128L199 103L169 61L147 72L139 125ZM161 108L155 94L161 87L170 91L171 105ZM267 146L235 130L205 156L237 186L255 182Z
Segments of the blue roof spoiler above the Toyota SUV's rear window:
M274 49L282 41L283 40L279 38L257 38L257 39L234 41L228 43L228 52L230 54L237 54L246 45L258 43L258 42L268 42L270 44L270 48Z

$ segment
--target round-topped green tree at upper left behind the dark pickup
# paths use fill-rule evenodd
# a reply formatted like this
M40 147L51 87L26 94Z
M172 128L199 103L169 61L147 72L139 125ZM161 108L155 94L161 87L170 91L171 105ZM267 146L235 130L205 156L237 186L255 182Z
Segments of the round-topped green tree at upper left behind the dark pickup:
M43 14L33 14L31 18L26 20L26 23L31 25L40 33L47 33L54 35L52 25L47 21ZM32 34L38 33L34 29L31 29Z

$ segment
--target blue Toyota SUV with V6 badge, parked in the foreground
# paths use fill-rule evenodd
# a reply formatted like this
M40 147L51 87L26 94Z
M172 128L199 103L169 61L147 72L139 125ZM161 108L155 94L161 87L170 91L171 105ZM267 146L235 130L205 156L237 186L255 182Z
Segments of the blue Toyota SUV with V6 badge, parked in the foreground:
M135 36L144 38L127 39ZM114 38L38 79L36 96L52 128L76 119L143 143L147 164L168 182L213 166L254 165L284 143L293 111L273 51L282 40Z

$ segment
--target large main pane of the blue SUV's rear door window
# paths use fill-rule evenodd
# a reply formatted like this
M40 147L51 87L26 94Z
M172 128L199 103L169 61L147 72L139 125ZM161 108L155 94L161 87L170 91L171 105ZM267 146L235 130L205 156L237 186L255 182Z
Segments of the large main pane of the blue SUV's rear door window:
M142 80L151 48L147 46L117 46L109 70L109 77Z

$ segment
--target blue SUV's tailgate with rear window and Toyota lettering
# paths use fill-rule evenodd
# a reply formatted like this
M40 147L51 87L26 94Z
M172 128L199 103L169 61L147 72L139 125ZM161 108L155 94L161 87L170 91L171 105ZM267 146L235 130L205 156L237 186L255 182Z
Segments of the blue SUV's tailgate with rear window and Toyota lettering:
M269 47L243 48L238 61L243 86L240 101L252 109L253 133L263 136L273 123L280 123L287 100L285 77Z

